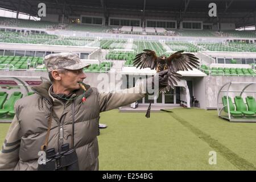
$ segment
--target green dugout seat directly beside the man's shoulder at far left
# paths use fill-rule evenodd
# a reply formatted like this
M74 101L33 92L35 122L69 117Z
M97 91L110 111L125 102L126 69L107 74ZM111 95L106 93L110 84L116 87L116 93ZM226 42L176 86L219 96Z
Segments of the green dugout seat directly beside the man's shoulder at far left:
M3 109L0 109L0 116L3 116L10 112L10 115L14 115L14 104L17 100L22 98L23 94L21 92L14 92L11 94L10 98L3 105Z

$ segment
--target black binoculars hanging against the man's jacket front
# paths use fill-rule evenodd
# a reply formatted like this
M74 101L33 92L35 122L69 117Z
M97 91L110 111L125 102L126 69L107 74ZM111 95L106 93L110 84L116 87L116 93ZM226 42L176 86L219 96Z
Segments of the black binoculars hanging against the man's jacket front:
M78 171L79 163L74 148L69 148L65 143L61 146L60 152L55 152L54 148L46 150L46 160L44 164L38 164L38 171Z

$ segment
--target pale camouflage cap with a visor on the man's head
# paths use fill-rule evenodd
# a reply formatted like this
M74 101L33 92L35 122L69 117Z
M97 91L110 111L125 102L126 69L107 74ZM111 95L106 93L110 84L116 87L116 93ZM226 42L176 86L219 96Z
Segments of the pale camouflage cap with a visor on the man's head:
M52 53L44 57L44 63L48 72L60 68L76 70L90 65L82 63L76 53Z

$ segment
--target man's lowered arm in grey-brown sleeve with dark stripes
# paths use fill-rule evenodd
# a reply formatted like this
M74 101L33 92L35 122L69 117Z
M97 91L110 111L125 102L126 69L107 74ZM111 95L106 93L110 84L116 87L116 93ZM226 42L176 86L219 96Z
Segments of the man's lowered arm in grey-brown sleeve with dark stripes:
M13 170L19 161L20 125L16 115L0 151L0 170Z

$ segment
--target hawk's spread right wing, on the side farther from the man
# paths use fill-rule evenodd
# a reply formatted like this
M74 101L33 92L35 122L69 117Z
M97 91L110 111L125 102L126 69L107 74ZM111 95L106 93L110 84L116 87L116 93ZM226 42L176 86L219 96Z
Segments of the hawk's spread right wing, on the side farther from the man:
M188 69L199 67L198 58L192 53L178 51L167 57L167 65L171 72L188 71Z

